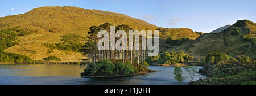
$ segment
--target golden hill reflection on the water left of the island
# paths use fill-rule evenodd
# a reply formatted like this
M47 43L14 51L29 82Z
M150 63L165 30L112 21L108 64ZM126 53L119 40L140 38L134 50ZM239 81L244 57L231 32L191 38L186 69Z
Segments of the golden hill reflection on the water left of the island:
M0 65L0 75L11 76L75 76L79 78L82 68L77 65L31 64Z

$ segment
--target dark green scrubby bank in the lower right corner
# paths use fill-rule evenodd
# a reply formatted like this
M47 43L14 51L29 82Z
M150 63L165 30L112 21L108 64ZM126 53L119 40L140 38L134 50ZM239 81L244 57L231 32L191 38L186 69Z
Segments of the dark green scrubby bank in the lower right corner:
M241 85L256 84L255 64L244 64L236 61L220 62L220 64L206 65L199 73L207 76L191 84L213 85Z

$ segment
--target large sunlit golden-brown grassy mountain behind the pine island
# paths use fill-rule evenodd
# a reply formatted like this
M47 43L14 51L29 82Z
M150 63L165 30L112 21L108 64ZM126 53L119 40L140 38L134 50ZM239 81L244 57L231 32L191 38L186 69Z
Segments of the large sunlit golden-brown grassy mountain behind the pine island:
M64 51L67 50L67 47L64 46L69 46L67 43L71 43L69 41L66 42L67 39L72 40L72 45L68 49L72 48L73 45L80 46L81 43L86 42L86 40L80 38L88 36L87 32L90 27L104 23L113 25L125 24L135 30L155 30L158 28L156 25L149 24L146 21L114 12L88 10L78 7L39 7L25 14L0 18L0 30L19 28L27 33L24 36L15 38L14 42L18 43L5 49L5 52L25 55L35 60L56 56L64 62L71 62L85 59L86 55L72 50ZM161 38L195 39L200 36L198 32L193 32L188 28L160 29L167 30L160 32L159 36ZM53 49L52 45L55 44L59 45L60 49L63 50Z

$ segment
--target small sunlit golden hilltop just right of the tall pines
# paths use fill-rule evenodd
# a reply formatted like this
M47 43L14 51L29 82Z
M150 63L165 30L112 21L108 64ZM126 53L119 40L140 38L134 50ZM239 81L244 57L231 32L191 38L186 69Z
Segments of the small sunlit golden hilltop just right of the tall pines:
M159 30L160 38L171 38L172 40L179 40L180 38L196 39L204 33L193 32L189 28L157 28Z

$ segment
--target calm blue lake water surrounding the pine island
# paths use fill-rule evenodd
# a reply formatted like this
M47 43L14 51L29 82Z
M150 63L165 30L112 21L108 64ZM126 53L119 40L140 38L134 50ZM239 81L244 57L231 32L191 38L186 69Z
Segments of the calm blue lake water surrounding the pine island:
M36 64L36 65L0 65L0 85L176 85L179 84L174 79L174 67L150 66L150 69L159 71L147 73L146 75L112 77L112 78L81 78L82 68L78 65L57 65L57 64ZM202 67L199 67L202 68ZM183 71L185 77L184 84L189 82L189 75ZM204 78L197 74L194 80Z

